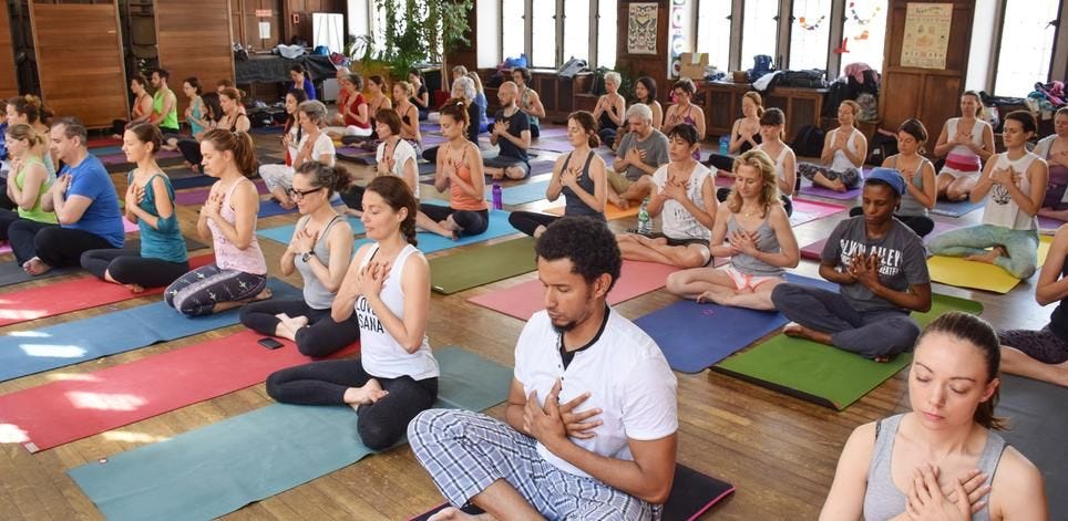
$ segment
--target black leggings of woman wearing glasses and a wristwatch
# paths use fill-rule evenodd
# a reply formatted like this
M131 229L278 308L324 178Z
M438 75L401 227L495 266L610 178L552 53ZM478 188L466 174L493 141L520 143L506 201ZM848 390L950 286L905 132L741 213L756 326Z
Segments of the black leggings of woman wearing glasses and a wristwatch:
M295 335L297 351L305 356L327 356L360 340L360 325L356 313L345 322L335 322L330 317L329 309L312 309L304 300L253 302L242 308L242 324L258 333L274 335L281 322L275 316L279 313L292 317L308 317L308 325L297 330Z

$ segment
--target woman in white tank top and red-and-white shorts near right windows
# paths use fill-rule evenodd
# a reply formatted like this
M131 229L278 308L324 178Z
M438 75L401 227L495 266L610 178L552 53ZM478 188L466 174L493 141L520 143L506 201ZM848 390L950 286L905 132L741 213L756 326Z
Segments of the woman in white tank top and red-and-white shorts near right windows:
M938 198L961 201L979 179L983 161L994 154L994 129L982 119L983 101L975 91L961 95L961 117L942 126L935 155L945 157L938 173Z

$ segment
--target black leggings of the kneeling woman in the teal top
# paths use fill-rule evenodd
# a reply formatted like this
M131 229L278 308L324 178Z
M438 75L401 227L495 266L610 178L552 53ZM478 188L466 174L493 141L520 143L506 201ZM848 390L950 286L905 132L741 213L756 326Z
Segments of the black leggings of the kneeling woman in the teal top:
M82 253L82 268L104 280L104 273L120 284L137 284L142 288L161 288L178 280L189 271L189 261L168 262L163 259L141 257L133 250L89 250Z

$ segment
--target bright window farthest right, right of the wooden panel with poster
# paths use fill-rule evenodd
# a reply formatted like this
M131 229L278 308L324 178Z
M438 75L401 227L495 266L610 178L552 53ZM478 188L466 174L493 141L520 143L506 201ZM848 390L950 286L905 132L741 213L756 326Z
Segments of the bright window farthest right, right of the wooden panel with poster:
M1046 83L1057 32L1050 21L1059 8L1057 0L1006 0L995 94L1023 97L1035 82Z

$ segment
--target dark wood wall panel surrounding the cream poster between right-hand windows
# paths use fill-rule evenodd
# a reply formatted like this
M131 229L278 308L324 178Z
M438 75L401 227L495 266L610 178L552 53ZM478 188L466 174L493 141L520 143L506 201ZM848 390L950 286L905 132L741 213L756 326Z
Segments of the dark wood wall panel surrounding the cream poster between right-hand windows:
M946 119L959 114L961 93L968 69L968 45L972 41L969 0L928 0L927 3L953 6L949 42L945 69L918 69L901 65L905 35L906 0L891 0L886 17L886 54L883 65L879 114L883 128L896 129L911 117L927 127L927 150L934 149L938 133Z

